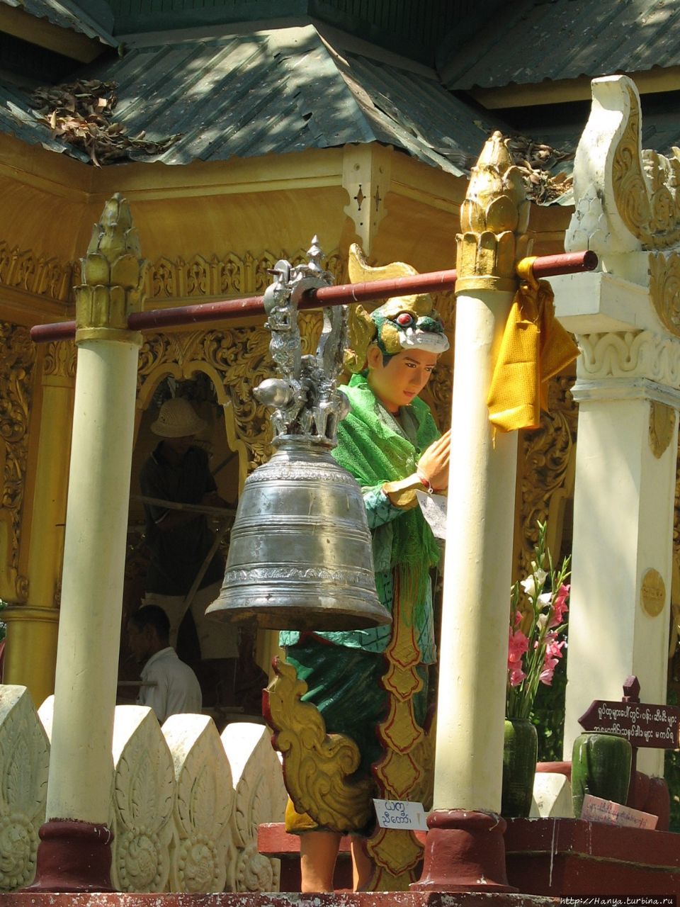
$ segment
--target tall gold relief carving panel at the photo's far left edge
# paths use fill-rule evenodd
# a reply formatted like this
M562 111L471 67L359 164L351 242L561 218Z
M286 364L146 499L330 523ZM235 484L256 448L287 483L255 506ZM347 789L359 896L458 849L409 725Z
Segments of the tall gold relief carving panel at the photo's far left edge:
M0 571L4 574L0 576L0 597L24 601L28 580L19 573L19 543L35 348L25 327L6 321L0 322L0 339L0 551L4 549L5 561L5 570Z

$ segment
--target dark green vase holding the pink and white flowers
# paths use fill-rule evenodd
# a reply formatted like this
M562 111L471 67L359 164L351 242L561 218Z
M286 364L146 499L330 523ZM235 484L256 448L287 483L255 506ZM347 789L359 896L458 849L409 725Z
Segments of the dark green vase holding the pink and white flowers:
M500 814L526 819L534 791L539 735L529 718L506 718Z

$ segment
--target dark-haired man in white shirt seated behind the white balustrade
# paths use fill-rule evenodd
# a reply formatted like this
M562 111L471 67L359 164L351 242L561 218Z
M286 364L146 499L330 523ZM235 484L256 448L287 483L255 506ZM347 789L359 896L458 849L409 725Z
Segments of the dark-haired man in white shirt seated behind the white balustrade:
M143 664L143 684L137 702L149 706L162 724L170 715L200 714L202 697L199 680L189 665L180 661L169 644L170 620L158 605L145 605L128 621L128 642L135 658Z

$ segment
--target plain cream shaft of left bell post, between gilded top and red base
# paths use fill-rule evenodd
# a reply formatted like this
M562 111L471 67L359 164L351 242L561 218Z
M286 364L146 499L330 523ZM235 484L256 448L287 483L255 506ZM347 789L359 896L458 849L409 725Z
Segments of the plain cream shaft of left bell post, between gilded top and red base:
M102 333L107 329L102 329ZM123 332L112 331L112 334ZM108 824L141 335L78 344L47 818Z

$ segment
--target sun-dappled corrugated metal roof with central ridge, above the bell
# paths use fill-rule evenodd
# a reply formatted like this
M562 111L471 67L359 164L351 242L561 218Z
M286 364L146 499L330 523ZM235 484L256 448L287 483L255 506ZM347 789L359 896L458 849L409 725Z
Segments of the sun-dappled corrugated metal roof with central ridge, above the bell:
M118 84L128 134L179 141L135 160L186 164L382 141L460 175L491 118L423 75L332 53L312 25L135 46L81 78Z

